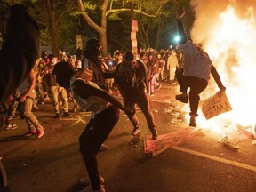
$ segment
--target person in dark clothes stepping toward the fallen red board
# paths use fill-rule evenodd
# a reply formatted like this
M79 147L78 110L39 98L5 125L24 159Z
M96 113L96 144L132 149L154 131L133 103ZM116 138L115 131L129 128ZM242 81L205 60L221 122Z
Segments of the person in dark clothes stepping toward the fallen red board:
M136 111L135 105L141 109L146 117L148 129L152 133L152 140L157 139L155 118L150 111L146 87L149 82L148 70L141 60L135 60L132 52L125 54L124 61L116 67L115 82L121 93L124 106ZM140 132L140 121L136 114L128 115L133 125L132 135Z

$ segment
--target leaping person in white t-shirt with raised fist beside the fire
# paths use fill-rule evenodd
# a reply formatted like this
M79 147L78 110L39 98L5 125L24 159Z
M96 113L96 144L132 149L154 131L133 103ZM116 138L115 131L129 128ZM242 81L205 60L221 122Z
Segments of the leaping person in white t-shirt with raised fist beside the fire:
M226 87L221 83L220 76L212 65L212 60L207 52L204 52L200 46L187 38L181 21L184 14L185 11L182 7L176 12L176 21L180 35L179 46L184 58L183 70L176 70L180 92L182 92L182 94L176 95L176 100L184 103L188 103L189 100L189 115L191 116L189 126L196 127L197 109L200 100L199 94L207 87L210 74L212 74L215 82L218 84L220 92L225 92ZM188 87L190 88L189 95L187 93Z

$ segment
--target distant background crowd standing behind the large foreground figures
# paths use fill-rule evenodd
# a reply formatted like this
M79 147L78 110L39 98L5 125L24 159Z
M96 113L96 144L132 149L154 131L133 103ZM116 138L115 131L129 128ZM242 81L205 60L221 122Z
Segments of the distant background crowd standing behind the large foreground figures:
M172 46L168 50L156 51L155 49L140 49L136 54L134 53L136 60L142 60L148 69L149 82L147 85L148 96L154 96L155 90L161 88L162 83L175 84L175 70L182 67L182 53L179 49L172 49ZM116 50L113 54L109 53L108 57L103 58L100 56L101 69L104 73L115 73L116 67L124 61L125 52ZM66 54L65 52L59 52L59 55L49 54L49 52L41 52L41 56L36 60L36 64L33 71L36 74L36 97L33 100L33 108L44 108L45 102L52 103L52 111L54 111L56 118L70 116L68 108L70 107L71 100L73 102L72 109L70 111L76 112L79 108L76 100L72 98L71 92L68 92L65 88L59 86L56 82L56 76L52 74L52 70L56 63L60 61L68 62L74 70L78 70L83 67L84 51L81 48L76 50L76 54ZM110 76L105 78L106 90L110 93L113 91L119 92L114 81L114 77ZM16 110L19 105L20 92L18 89L10 95L10 108L6 115L3 129L17 129L18 124L11 124L9 121L17 119L19 116ZM20 106L19 106L20 107ZM62 109L63 113L60 113ZM34 134L34 132L33 132ZM28 132L25 135L29 135Z

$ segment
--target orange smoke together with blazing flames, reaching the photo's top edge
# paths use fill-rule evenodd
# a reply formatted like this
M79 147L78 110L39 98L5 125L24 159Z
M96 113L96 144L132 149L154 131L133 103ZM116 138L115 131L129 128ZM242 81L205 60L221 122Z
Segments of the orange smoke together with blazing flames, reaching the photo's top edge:
M256 0L191 0L190 4L195 11L191 38L203 44L227 87L233 111L223 117L237 124L255 125L252 87L256 82ZM218 91L213 82L215 90L206 89L201 95L203 100Z

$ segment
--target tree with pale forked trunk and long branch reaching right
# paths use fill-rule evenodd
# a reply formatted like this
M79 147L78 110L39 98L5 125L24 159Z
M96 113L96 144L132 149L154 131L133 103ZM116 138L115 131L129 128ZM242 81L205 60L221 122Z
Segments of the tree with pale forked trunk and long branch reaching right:
M107 18L108 15L116 15L117 12L131 12L131 4L133 4L133 12L143 14L147 17L156 18L161 11L161 9L164 7L165 4L174 2L174 0L110 0L110 4L108 6L108 0L103 0L103 3L100 5L100 12L101 12L101 20L100 24L97 24L88 14L88 10L90 8L95 9L95 1L93 1L94 6L92 5L92 2L86 1L83 3L82 0L77 0L78 3L78 10L80 14L83 15L84 20L87 22L87 24L92 27L100 36L100 42L102 44L102 55L107 56L108 54L108 47L107 47ZM116 5L114 4L116 3ZM155 4L153 6L152 4ZM115 6L114 6L115 5ZM144 12L144 6L150 6L150 12Z

